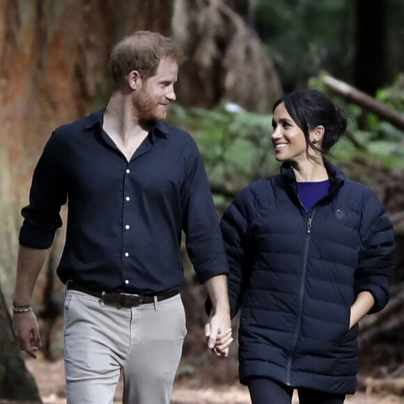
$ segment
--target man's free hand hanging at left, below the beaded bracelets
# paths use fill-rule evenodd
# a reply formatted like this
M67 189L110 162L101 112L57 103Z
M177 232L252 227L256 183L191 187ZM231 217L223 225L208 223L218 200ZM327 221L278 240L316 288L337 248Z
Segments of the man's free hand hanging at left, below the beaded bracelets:
M41 343L38 321L33 311L13 313L13 329L20 350L36 359Z

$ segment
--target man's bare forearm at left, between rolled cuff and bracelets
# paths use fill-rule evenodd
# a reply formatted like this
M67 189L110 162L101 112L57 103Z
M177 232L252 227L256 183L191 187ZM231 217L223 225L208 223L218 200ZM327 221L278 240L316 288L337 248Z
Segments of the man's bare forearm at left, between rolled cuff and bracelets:
M13 302L31 304L33 288L45 263L48 249L31 249L20 245L17 260L17 281Z

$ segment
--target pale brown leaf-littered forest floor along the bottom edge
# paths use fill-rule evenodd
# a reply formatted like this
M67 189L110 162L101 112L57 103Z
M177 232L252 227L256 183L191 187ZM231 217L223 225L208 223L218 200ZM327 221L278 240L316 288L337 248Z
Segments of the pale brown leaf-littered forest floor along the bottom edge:
M49 362L38 359L26 359L26 366L36 379L40 396L44 404L65 404L63 359ZM201 377L201 376L199 376ZM199 387L198 387L199 386ZM231 386L202 387L203 382L192 378L179 380L174 384L171 404L251 404L249 394L240 384ZM122 383L116 390L115 403L121 403ZM293 404L297 404L294 398ZM371 391L358 392L355 396L348 396L346 404L404 404L404 398L392 394L376 394Z

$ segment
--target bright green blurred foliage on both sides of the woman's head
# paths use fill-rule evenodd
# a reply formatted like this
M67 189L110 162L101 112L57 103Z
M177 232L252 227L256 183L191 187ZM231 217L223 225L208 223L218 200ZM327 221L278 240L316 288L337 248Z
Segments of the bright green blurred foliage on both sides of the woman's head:
M310 84L312 88L325 91L320 78L312 79ZM402 100L404 89L398 91L395 84L382 92L386 97L391 94L395 95L394 100ZM357 148L351 139L343 137L332 150L331 160L337 164L360 160L388 169L404 168L403 132L354 104L346 104L341 98L328 95L348 116L348 131L352 137L364 145L363 149ZM272 115L230 112L225 106L206 111L173 105L169 120L192 133L211 182L241 189L249 182L279 172L279 163L274 159L270 144ZM364 181L368 179L364 178ZM225 208L228 202L227 197L215 195L219 208Z

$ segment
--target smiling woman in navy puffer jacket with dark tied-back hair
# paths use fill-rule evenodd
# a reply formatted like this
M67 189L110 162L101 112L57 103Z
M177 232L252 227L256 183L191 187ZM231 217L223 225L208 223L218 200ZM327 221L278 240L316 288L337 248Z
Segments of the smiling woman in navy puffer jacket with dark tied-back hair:
M371 189L324 159L346 120L319 91L274 104L281 174L245 187L221 227L240 381L253 404L355 393L358 321L389 300L394 233ZM225 337L226 338L226 337Z

